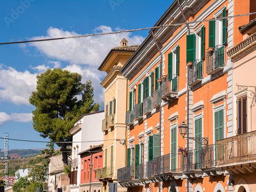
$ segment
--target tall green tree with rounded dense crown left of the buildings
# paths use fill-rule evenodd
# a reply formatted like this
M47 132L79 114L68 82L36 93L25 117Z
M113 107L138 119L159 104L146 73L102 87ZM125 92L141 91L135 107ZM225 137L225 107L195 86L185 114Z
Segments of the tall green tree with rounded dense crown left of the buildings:
M37 75L36 90L29 98L36 107L33 127L41 137L49 137L60 146L62 161L68 163L67 141L72 141L70 129L73 121L84 113L99 110L93 100L92 82L81 82L82 76L67 70L48 69ZM77 96L81 95L78 100ZM64 152L65 151L65 152ZM50 153L50 152L49 152Z

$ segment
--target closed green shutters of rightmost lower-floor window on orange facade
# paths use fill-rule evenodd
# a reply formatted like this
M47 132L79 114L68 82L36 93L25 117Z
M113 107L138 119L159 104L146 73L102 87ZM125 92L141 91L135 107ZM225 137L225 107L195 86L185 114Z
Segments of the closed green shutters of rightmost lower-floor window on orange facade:
M224 110L215 112L215 141L224 138Z

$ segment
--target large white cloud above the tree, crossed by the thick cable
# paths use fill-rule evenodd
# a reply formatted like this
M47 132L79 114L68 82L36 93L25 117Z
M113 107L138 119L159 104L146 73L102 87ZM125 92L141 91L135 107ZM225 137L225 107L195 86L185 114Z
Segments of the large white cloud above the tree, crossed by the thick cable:
M99 26L94 33L112 32L111 27ZM47 36L37 36L33 39L58 38L78 36L74 31L63 31L62 29L50 27ZM62 40L32 42L29 45L36 47L40 52L50 58L69 61L71 64L86 64L98 67L111 48L120 46L122 38L129 41L129 45L139 45L143 41L142 36L132 36L132 33L118 33L82 38L70 38Z

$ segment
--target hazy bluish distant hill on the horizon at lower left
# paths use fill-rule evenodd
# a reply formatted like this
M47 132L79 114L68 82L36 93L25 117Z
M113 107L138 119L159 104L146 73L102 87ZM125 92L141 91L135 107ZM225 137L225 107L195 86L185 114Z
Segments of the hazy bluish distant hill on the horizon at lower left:
M31 157L40 154L40 150L44 150L45 148L32 148L28 150L22 150L20 148L13 148L12 150L8 151L8 156L15 158L15 159L20 159L20 158L26 158L26 157ZM0 152L0 158L4 157L4 149L1 148Z

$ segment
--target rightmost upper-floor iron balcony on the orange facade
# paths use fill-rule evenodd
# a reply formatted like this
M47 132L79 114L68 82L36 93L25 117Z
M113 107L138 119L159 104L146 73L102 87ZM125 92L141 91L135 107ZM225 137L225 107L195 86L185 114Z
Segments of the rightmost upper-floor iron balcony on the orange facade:
M206 73L213 75L225 66L225 46L218 45L206 54Z

